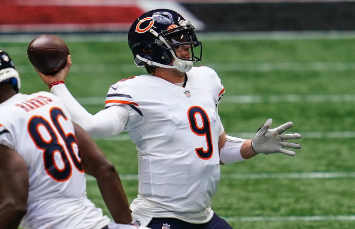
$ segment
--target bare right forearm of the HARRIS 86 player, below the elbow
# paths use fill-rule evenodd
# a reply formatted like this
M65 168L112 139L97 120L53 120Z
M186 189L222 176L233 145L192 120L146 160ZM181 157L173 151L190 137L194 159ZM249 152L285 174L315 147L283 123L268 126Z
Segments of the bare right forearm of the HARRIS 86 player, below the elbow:
M132 221L128 200L113 165L101 169L96 176L102 198L116 223Z

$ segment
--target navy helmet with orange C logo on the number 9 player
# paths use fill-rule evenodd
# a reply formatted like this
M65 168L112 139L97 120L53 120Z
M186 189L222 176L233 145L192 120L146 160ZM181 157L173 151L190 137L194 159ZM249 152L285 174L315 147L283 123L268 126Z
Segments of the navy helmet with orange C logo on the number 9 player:
M193 62L201 61L202 44L194 26L172 10L158 9L141 15L128 32L128 45L136 65L176 68L189 71ZM177 57L175 48L190 46L190 58ZM169 65L173 61L172 66Z

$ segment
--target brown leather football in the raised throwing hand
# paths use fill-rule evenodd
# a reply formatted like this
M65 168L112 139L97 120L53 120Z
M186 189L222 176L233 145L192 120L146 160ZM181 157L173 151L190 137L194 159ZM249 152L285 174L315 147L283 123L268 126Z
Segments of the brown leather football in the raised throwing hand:
M27 48L29 61L45 74L55 74L63 68L68 55L66 44L58 36L50 34L37 36Z

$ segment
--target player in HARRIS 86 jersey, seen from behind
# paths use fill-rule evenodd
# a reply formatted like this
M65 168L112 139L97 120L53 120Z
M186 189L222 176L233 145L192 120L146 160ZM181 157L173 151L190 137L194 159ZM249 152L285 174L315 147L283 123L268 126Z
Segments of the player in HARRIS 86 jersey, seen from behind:
M0 50L0 228L135 228L120 178L90 136L49 92L18 93L20 78ZM86 196L97 180L115 221ZM126 224L118 224L126 223Z

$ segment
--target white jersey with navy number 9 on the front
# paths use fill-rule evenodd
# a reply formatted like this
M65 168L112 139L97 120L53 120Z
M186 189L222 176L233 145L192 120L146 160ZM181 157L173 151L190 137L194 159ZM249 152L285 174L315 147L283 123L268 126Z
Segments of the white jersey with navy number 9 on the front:
M128 132L138 150L138 197L130 208L145 216L202 223L213 212L220 179L217 104L224 88L208 67L187 72L185 87L152 75L121 80L106 107L126 104Z

